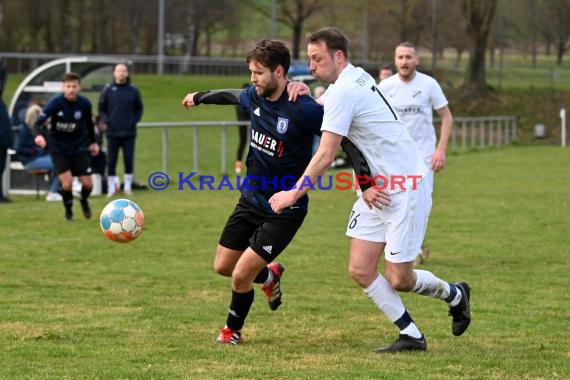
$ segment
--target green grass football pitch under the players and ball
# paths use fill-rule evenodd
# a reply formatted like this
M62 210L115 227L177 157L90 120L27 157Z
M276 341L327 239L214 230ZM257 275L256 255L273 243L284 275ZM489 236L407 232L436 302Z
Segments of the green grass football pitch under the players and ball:
M137 79L144 121L232 120L232 107L185 111L180 100L243 80ZM171 177L192 170L192 136L169 133ZM200 138L200 174L218 176L219 129ZM161 170L160 139L158 130L140 132L140 182ZM271 312L257 290L238 347L214 343L230 282L212 270L236 191L179 191L176 183L136 191L146 225L129 244L106 240L77 202L68 223L60 204L12 195L0 205L0 378L568 379L568 162L570 150L558 147L449 155L436 176L423 267L470 283L473 322L454 337L443 302L404 294L428 352L392 356L373 350L391 343L396 328L347 274L350 191L311 194L309 215L280 257L284 304ZM94 214L106 203L94 197Z

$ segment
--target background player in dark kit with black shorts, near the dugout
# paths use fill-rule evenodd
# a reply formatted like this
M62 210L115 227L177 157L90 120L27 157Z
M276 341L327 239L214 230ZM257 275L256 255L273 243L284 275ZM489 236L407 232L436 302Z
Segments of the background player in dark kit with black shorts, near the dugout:
M85 218L91 218L89 195L93 189L89 153L96 156L99 145L95 141L91 102L79 95L81 77L77 73L63 75L63 94L50 100L34 124L36 144L49 150L55 173L61 181L61 196L65 218L73 219L73 176L81 182L81 209ZM49 120L49 129L45 128Z

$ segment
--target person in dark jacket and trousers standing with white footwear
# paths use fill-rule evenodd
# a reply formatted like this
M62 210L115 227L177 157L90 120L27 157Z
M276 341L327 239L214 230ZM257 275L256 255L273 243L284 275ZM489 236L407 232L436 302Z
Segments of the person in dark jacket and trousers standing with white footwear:
M123 151L125 164L123 190L127 195L132 194L137 123L142 115L140 92L131 84L127 65L119 63L113 70L113 83L105 86L99 98L99 117L107 135L108 197L121 188L116 172L119 149Z

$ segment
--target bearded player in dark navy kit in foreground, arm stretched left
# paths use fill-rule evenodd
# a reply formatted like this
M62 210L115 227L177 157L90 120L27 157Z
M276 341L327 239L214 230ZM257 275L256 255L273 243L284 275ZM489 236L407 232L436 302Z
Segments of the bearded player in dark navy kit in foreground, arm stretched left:
M288 188L311 160L314 135L320 133L323 109L310 96L289 100L289 49L275 40L260 41L246 57L252 86L236 90L194 92L186 108L198 104L240 104L251 116L247 176L216 250L214 270L232 277L229 313L217 338L237 344L253 303L254 283L262 283L271 310L281 304L282 264L274 262L301 227L308 197L277 215L268 199Z

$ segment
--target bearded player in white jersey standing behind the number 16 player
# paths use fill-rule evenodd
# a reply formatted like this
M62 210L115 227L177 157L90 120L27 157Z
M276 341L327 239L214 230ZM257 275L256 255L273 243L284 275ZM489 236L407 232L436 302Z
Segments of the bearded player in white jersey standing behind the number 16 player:
M398 75L384 79L378 83L378 88L400 114L424 162L431 169L428 179L433 192L433 174L445 167L445 149L451 135L453 116L437 81L416 70L419 62L414 44L400 43L394 53ZM433 126L434 109L441 119L439 141ZM428 255L429 248L424 246L418 253L416 264L422 263Z

